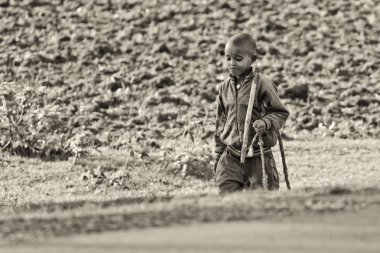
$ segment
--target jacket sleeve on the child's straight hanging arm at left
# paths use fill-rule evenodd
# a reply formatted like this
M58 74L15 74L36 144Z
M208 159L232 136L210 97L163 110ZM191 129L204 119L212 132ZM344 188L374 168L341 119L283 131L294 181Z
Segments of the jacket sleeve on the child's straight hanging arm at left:
M221 95L221 88L219 89L219 94L217 96L217 109L216 109L216 122L215 122L215 132L214 132L214 140L215 140L215 159L219 160L220 156L224 152L226 145L221 141L220 134L224 129L224 124L226 122L225 115L225 107L223 104L223 99Z

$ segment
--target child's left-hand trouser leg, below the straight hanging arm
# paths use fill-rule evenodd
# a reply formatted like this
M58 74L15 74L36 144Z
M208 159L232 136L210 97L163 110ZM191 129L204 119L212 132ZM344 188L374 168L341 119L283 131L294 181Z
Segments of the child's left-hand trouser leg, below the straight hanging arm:
M216 182L220 193L240 191L244 189L244 169L240 158L233 156L227 150L219 158L216 167Z

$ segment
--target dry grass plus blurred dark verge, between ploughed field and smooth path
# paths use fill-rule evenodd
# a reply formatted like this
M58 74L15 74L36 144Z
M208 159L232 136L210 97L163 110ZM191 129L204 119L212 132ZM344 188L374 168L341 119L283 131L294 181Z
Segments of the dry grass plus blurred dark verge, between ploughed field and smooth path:
M230 196L216 196L213 180L182 177L180 153L165 155L166 165L160 152L140 157L127 150L102 149L75 164L3 155L0 235L27 240L380 205L378 140L293 140L285 145L292 191L282 182L279 192ZM200 152L209 148L187 151L202 160ZM275 157L281 170L278 150ZM97 174L104 178L83 180L83 175Z

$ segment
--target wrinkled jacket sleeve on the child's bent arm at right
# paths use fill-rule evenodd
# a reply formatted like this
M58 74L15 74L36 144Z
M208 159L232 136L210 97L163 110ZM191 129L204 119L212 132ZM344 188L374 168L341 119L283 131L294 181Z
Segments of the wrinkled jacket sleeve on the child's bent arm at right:
M278 131L285 125L286 119L289 117L289 111L285 108L280 100L276 86L266 77L260 78L263 111L265 114L263 120L268 130Z

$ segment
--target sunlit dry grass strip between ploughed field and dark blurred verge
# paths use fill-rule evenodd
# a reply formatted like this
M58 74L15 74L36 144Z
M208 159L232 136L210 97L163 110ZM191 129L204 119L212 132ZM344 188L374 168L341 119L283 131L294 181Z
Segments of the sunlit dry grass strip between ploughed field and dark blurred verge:
M285 141L293 189L379 185L379 144L379 140ZM198 147L192 153L210 151L209 145L203 146L204 150ZM282 171L278 149L274 153L278 169ZM170 156L172 160L169 160ZM138 154L131 157L127 150L102 149L97 155L80 159L74 165L72 160L41 161L3 154L1 205L15 207L30 203L215 194L213 180L182 177L182 158L178 156L175 158L173 154L166 154L167 160L162 161L163 152L140 158ZM209 171L211 165L204 165L203 169ZM83 180L83 175L91 170L94 172L90 175L99 174L99 168L105 175L103 180ZM283 181L282 175L281 178ZM281 191L285 190L282 182Z

